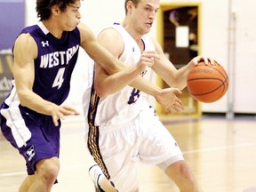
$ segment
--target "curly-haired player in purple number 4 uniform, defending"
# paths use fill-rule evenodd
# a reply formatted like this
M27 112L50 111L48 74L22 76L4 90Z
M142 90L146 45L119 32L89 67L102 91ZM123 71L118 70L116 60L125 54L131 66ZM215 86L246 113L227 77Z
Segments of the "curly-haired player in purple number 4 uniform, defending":
M157 58L156 52L144 52L135 67L126 68L79 22L80 5L80 0L36 0L40 22L24 28L13 47L12 91L1 106L0 120L4 137L26 160L28 177L20 192L51 191L57 180L60 119L78 115L61 104L68 97L80 46L126 84ZM115 191L110 182L106 185Z

